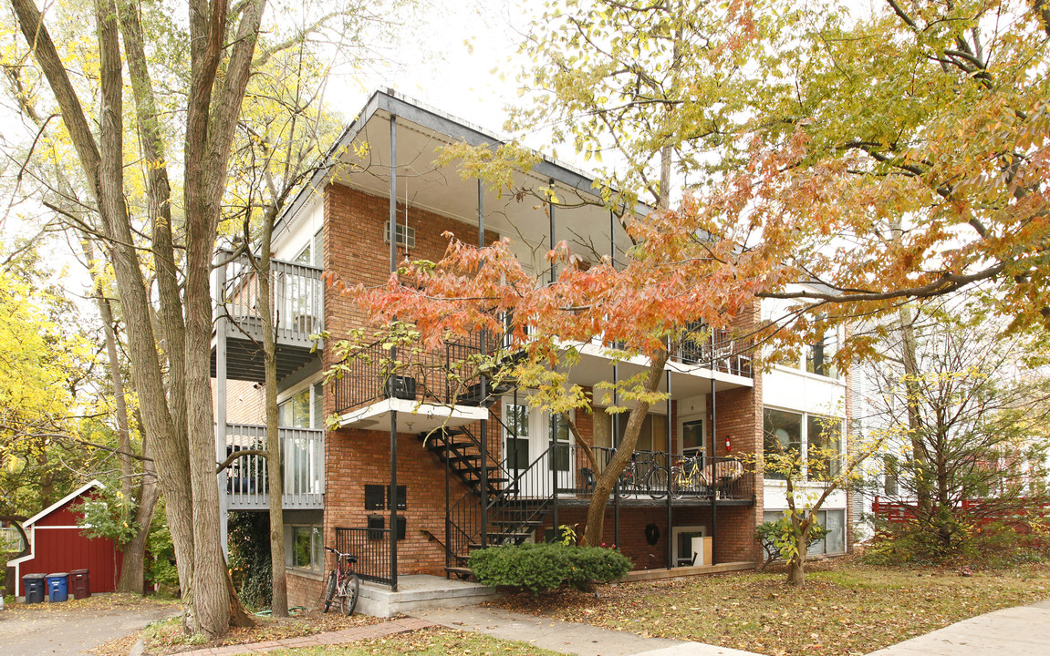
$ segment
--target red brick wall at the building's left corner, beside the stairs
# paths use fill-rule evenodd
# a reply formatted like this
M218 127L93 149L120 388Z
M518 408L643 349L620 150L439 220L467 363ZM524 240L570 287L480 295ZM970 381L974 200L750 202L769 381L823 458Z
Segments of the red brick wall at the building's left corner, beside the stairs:
M341 275L349 284L380 285L390 277L390 243L383 240L383 225L390 218L390 200L371 196L341 184L324 190L324 269ZM398 205L398 221L404 222L404 206ZM407 254L398 246L398 257L440 260L450 232L464 240L477 239L478 228L438 214L408 209L408 224L416 231L416 247ZM499 235L485 234L491 243ZM335 338L363 325L364 318L353 301L328 290L324 298L324 326ZM324 368L333 364L331 349L324 351ZM335 412L335 400L326 394L324 414ZM495 423L495 422L492 422ZM335 544L336 527L365 527L369 515L382 515L390 527L390 512L364 509L364 485L390 482L388 423L377 430L329 432L326 438L324 542ZM385 429L385 430L384 430ZM500 434L489 430L489 444L498 453ZM399 572L443 574L444 550L422 531L444 540L445 469L415 435L398 435L398 484L406 486L405 539L398 543ZM466 487L453 481L452 500L459 500ZM328 559L326 569L332 566Z

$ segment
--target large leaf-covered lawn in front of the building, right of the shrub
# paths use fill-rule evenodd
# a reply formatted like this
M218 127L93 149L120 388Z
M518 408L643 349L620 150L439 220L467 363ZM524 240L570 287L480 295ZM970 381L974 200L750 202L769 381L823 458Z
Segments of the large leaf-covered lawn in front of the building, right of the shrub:
M853 559L807 566L791 589L782 571L519 594L492 604L532 614L697 640L772 656L867 654L989 611L1050 598L1050 567L1009 572L870 567Z

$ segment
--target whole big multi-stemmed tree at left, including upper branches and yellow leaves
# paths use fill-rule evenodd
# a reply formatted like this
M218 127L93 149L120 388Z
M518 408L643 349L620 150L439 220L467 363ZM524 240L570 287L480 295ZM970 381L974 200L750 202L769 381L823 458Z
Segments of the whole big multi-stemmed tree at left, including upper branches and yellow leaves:
M51 7L46 20L28 0L10 6L21 35L20 47L5 54L12 92L20 99L49 90L46 111L61 116L63 130L42 129L38 140L61 140L74 155L64 162L79 165L70 178L88 217L48 206L102 239L122 310L133 318L128 356L156 447L181 588L190 597L186 626L217 635L231 616L249 621L229 590L218 540L209 371L209 279L242 103L253 74L275 54L318 36L338 44L357 34L339 31L353 22L348 17L366 24L381 10L296 5L288 9L301 20L264 25L265 0L191 0L175 16L153 2L100 1ZM85 24L96 36L91 47L51 36ZM125 146L131 143L133 156Z

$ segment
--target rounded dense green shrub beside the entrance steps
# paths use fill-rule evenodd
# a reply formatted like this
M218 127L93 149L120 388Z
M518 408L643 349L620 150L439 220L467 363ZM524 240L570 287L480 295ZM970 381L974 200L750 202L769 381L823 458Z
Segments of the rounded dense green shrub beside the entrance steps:
M631 571L631 561L615 549L560 543L489 547L470 554L470 569L486 586L508 586L533 594L570 586L584 590Z

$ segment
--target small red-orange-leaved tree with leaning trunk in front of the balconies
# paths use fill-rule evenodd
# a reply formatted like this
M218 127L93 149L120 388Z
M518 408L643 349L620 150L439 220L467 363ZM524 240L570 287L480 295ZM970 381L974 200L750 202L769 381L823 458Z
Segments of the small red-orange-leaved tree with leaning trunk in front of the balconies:
M682 340L702 340L687 326L726 328L735 316L752 311L754 292L762 283L754 272L765 266L742 259L732 270L722 266L723 248L731 243L700 239L685 215L628 218L627 228L637 245L616 266L609 257L581 265L566 243L559 244L548 257L567 266L546 285L523 269L507 239L485 248L453 240L437 263L406 262L384 287L349 289L380 333L398 345L401 355L390 362L392 371L411 362L413 349L433 349L443 341L467 341L478 333L505 335L492 340L502 347L471 359L458 378L481 374L494 385L512 379L536 390L530 402L562 413L588 457L570 411L590 413L595 404L611 406L612 393L622 399L622 406L609 411L629 409L624 437L608 464L593 466L600 474L583 535L590 545L602 543L609 496L630 460L649 408L667 399L659 386L670 353ZM372 340L372 333L359 331L356 338L336 344L335 352L352 362ZM645 371L586 394L571 382L571 369L579 346L592 340L612 362L644 359ZM342 369L332 374L340 375Z

